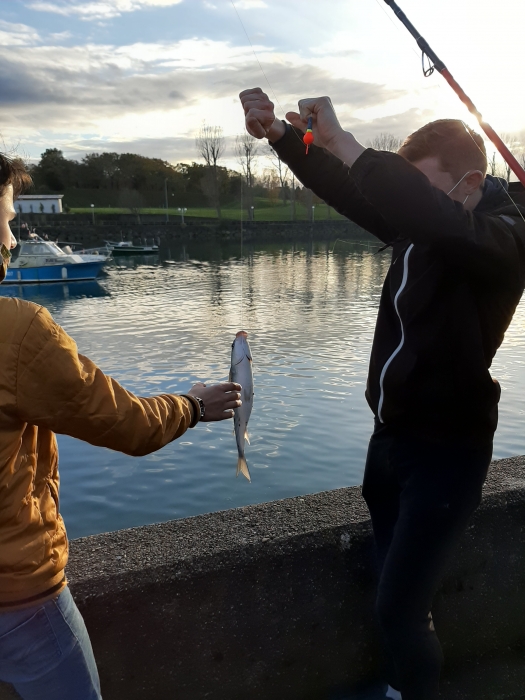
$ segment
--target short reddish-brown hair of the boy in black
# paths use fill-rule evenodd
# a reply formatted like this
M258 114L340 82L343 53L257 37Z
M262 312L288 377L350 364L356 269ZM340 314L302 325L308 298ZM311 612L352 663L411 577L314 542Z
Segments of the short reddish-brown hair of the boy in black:
M438 119L423 126L405 140L398 151L411 163L439 158L441 167L454 179L469 169L487 173L487 151L481 136L461 119Z

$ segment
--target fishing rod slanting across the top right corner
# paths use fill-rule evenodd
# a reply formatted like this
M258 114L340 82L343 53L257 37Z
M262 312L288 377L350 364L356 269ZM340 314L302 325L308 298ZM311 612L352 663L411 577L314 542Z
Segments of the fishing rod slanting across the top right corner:
M445 78L445 80L454 90L459 99L463 102L464 105L466 105L469 112L476 117L480 127L483 129L483 131L489 137L492 143L496 146L501 156L514 173L514 175L516 175L518 180L525 187L525 170L521 167L516 158L512 155L512 153L509 151L507 146L503 143L503 141L494 131L494 129L490 126L490 124L488 124L483 119L483 115L481 114L481 112L477 109L476 105L472 102L472 100L463 90L461 85L454 79L451 72L448 70L443 61L431 49L428 41L426 41L426 39L424 39L421 36L421 34L417 31L412 22L410 22L408 17L405 15L405 13L401 10L399 5L397 5L397 3L394 0L385 0L385 2L392 8L397 18L405 25L408 31L412 34L412 36L417 42L417 45L423 52L422 61L423 73L425 75L425 78L431 76L434 70L437 70L438 73L441 73L441 75ZM427 58L429 61L429 65L427 67L425 67L425 58Z

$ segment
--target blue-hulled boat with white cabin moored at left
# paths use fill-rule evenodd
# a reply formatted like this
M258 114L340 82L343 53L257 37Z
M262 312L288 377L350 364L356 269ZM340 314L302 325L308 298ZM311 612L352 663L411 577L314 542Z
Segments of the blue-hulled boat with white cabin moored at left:
M36 233L30 234L28 240L20 241L19 245L20 250L7 269L4 284L93 280L106 262L102 255L85 260L82 255L68 254L56 243L45 241Z

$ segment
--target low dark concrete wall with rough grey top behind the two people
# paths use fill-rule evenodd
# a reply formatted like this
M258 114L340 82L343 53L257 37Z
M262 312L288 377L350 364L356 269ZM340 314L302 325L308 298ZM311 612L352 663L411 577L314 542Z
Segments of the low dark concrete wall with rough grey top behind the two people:
M524 530L525 458L495 462L435 601L447 700L523 697ZM336 700L379 675L359 488L78 539L68 577L105 700Z

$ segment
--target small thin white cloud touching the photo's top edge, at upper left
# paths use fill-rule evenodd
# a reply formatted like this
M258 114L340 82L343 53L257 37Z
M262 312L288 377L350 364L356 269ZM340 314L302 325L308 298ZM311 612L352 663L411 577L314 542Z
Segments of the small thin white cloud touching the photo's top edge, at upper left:
M53 12L65 17L76 16L83 20L106 20L120 17L124 12L135 12L148 7L171 7L183 0L111 0L108 2L45 2L35 0L27 4L30 10Z

